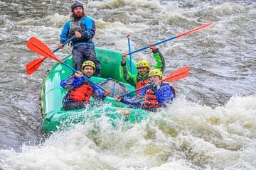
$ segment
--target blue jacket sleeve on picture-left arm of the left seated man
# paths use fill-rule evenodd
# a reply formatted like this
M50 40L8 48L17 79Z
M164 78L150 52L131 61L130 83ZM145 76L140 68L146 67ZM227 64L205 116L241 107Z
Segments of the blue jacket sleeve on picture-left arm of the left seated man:
M81 86L82 84L82 77L75 78L74 75L68 77L67 79L64 79L60 82L60 86L63 87L63 89L69 91L70 89L73 89L74 87Z

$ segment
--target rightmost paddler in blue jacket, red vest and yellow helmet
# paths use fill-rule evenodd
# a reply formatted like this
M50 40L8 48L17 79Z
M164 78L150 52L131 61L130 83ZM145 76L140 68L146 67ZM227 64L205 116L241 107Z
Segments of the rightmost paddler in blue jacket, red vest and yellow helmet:
M149 83L155 83L153 86L142 89L138 96L124 96L123 98L115 96L114 98L116 101L121 101L129 106L144 108L149 111L166 107L166 103L173 101L175 91L169 84L160 81L162 77L163 73L161 70L152 69L149 72Z

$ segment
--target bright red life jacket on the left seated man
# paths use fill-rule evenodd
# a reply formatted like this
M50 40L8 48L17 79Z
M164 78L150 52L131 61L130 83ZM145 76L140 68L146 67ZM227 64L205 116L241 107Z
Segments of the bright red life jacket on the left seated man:
M70 99L73 101L87 102L92 96L92 86L89 84L82 84L82 86L75 87L70 91Z

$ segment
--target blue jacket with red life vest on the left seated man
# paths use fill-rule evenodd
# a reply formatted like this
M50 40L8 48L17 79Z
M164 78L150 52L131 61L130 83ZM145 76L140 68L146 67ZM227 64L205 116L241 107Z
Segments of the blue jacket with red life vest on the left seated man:
M97 86L90 84L83 77L76 78L74 75L60 82L68 93L63 98L63 106L70 102L87 103L90 97L93 96L97 101L104 100L104 92Z

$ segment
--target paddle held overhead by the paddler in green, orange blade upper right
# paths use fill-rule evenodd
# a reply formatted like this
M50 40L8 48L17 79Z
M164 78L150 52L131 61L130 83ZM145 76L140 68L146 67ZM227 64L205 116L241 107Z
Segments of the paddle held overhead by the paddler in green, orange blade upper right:
M185 33L181 33L181 34L176 35L176 36L174 36L174 37L167 38L167 39L165 39L165 40L161 40L161 41L159 41L159 42L156 42L156 43L154 43L154 45L159 45L159 44L162 44L162 43L167 42L167 41L169 41L169 40L174 40L175 38L180 38L180 37L182 37L182 36L184 36L184 35L188 35L188 34L191 34L191 33L195 33L195 32L198 31L198 30L202 30L202 29L208 28L208 27L210 27L210 26L213 26L213 23L206 23L206 24L204 24L203 26L198 26L198 27L196 27L196 28L193 28L193 30L188 30L188 31L186 31ZM142 48L139 48L138 50L134 50L134 51L132 51L132 52L129 52L127 55L132 55L132 54L134 54L135 52L139 52L139 51L142 51L142 50L146 50L147 48L149 48L149 46L142 47Z

